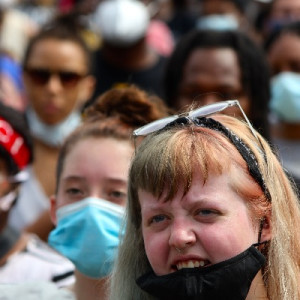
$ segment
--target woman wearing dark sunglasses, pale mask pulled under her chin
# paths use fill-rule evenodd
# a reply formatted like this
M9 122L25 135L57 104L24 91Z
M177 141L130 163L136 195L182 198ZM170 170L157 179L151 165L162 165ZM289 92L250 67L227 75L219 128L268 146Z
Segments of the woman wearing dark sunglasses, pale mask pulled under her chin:
M28 44L23 78L35 159L10 224L46 240L52 228L48 199L55 191L59 148L80 124L81 106L93 90L89 51L76 31L60 24L47 25Z

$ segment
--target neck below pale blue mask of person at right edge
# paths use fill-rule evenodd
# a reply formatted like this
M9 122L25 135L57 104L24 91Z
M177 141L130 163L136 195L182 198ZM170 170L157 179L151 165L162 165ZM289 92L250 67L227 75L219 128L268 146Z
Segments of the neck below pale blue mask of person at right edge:
M271 126L271 134L286 140L300 140L300 123L276 123Z

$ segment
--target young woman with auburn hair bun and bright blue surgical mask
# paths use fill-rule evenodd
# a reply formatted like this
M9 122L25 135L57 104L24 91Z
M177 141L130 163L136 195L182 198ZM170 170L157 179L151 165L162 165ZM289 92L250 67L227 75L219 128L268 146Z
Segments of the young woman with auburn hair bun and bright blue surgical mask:
M125 226L132 131L167 114L162 101L151 99L136 87L109 90L87 108L83 124L61 148L51 197L56 227L48 243L76 266L72 289L78 300L106 297Z

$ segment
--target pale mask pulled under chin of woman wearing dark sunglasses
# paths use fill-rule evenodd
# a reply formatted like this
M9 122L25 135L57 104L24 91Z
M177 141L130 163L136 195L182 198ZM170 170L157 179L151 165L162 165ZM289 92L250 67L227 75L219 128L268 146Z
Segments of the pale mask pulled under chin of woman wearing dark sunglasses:
M64 139L81 122L79 111L73 111L66 119L56 125L45 124L30 107L27 109L26 115L32 136L52 147L60 147Z

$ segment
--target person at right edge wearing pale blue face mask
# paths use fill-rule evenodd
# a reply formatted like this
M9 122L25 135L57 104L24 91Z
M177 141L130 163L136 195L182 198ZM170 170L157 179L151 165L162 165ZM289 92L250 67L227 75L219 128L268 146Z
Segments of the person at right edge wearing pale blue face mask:
M300 22L274 31L266 41L272 71L272 140L284 166L300 187Z

